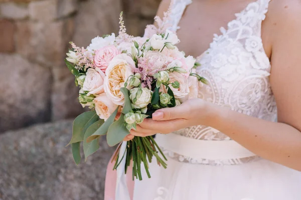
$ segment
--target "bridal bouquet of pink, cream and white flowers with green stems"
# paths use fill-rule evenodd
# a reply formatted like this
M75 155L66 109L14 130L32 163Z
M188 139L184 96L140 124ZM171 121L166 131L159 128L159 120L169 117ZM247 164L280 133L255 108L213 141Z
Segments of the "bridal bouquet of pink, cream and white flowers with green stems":
M75 162L80 162L80 143L85 158L99 148L98 139L106 134L109 146L120 143L144 118L159 108L174 107L190 97L197 97L195 73L199 64L185 56L175 46L179 42L174 32L154 33L150 37L133 37L126 33L120 14L120 31L115 37L104 35L92 39L87 47L77 47L67 53L67 67L80 86L79 101L91 111L80 114L73 123L69 144ZM152 136L134 137L127 141L119 157L117 148L114 169L125 159L125 172L133 161L133 177L142 179L141 163L148 177L148 162L154 157L167 167L165 155Z

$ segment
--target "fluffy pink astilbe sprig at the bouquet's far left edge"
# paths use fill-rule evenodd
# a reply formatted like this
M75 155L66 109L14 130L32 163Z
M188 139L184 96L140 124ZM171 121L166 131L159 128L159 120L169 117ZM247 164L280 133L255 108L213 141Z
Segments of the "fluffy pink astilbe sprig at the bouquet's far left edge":
M95 68L93 52L88 51L84 47L78 47L73 42L70 42L78 59L75 68L86 71L88 68Z

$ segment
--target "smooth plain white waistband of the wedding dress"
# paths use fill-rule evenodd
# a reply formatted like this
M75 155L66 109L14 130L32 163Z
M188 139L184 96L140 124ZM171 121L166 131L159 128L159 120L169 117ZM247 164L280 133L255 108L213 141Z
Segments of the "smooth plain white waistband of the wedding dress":
M166 150L194 159L239 159L256 155L234 140L199 140L169 133L157 134L156 141Z

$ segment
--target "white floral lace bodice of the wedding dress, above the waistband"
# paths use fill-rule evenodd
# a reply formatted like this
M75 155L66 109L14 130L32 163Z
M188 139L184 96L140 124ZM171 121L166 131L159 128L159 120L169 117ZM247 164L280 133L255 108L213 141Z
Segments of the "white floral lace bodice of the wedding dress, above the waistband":
M261 22L269 1L257 0L248 4L235 14L237 18L228 23L227 29L221 27L221 34L214 34L209 49L198 57L201 66L197 72L209 82L208 85L199 83L198 97L250 116L275 121L276 103L269 83L271 66L261 40ZM192 0L173 0L171 30L180 28L178 23L190 3ZM203 125L176 133L195 139L230 139L219 130ZM183 157L179 159L184 161Z

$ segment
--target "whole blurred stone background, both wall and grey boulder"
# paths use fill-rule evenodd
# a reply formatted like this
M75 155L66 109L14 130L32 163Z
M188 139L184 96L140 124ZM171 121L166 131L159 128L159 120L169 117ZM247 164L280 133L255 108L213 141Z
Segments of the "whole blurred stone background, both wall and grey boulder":
M103 199L113 148L73 162L72 121L83 111L64 64L68 42L142 35L161 0L0 0L0 200Z

